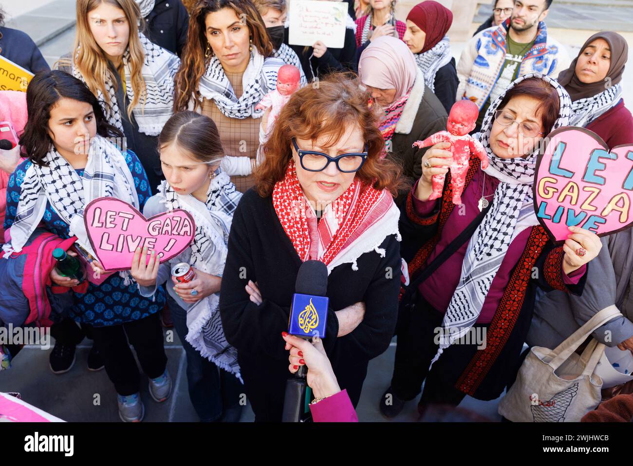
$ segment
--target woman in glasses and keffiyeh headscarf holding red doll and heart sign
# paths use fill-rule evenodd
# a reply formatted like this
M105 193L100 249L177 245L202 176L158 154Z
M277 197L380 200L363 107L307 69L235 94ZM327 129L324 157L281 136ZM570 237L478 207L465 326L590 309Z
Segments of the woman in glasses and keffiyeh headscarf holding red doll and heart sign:
M498 398L516 374L537 287L582 293L598 236L570 227L565 244L555 247L532 199L542 139L568 124L570 110L565 89L547 76L511 83L486 113L478 137L489 167L470 158L461 206L451 201L448 174L442 198L429 201L432 176L451 165L450 144L422 157L422 177L401 207L411 284L398 316L391 386L379 401L385 416L398 415L422 382L420 412L457 406L467 394Z

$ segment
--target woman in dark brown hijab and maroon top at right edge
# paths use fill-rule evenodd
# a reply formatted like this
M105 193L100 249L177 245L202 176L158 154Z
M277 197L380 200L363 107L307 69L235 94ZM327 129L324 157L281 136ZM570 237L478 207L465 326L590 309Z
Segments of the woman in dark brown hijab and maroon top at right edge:
M570 125L587 128L609 146L633 143L633 116L622 99L629 47L617 32L598 32L580 49L558 82L572 98Z

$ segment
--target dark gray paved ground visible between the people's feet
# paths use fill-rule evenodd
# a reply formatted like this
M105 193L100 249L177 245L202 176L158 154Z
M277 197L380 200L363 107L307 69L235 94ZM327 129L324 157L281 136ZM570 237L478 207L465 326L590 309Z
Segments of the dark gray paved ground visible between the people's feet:
M162 404L154 402L147 391L147 378L142 375L141 396L146 408L144 420L147 422L198 420L187 393L185 353L175 332L173 340L173 343L165 343L167 368L175 381L175 391L170 400ZM361 421L387 422L380 415L378 400L391 379L395 345L394 341L384 354L370 362L357 409ZM66 374L59 375L53 374L49 368L51 349L25 348L15 358L10 370L0 372L0 391L20 392L23 400L67 421L118 422L116 391L105 370L91 372L87 369L90 347L90 342L84 340L77 348L75 365ZM501 419L497 413L497 401L467 397L460 406L491 420ZM247 404L241 421L251 422L253 419L253 411ZM417 419L417 402L411 401L403 413L391 422L415 422Z

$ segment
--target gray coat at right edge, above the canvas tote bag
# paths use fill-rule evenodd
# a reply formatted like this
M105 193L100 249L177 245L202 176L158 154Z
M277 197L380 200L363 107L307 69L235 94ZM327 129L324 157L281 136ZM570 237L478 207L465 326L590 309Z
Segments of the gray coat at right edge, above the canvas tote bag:
M537 298L527 344L553 349L610 305L617 306L623 316L599 327L593 336L611 347L633 336L633 229L603 237L602 244L587 268L582 296L553 291Z

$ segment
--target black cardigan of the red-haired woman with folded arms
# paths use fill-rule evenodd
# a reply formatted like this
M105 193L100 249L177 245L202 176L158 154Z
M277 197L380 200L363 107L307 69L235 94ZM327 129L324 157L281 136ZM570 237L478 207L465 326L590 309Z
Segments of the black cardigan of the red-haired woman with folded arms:
M400 248L395 236L382 242L386 251L335 267L329 275L325 351L341 389L358 403L367 364L387 349L396 326L400 287ZM237 348L244 389L256 420L279 421L289 377L288 356L281 332L287 331L290 304L301 260L273 208L272 196L261 198L249 189L233 217L229 253L220 291L220 315L227 341ZM244 287L258 283L263 303L249 301ZM365 318L350 334L337 338L334 311L365 302Z

